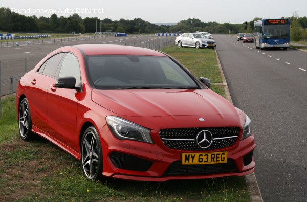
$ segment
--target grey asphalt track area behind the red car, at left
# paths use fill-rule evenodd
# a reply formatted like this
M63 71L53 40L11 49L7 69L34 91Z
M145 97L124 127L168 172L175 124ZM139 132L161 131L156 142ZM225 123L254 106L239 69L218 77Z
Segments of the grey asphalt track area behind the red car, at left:
M14 92L20 77L25 72L32 70L42 58L59 47L76 44L98 43L160 49L166 46L166 44L173 43L175 38L175 36L162 37L155 35L128 35L127 37L104 37L89 40L62 41L55 43L41 43L41 39L39 39L38 44L37 40L34 40L36 41L35 43L33 43L33 40L31 40L30 45L19 42L20 46L18 47L2 47L0 48L1 95L10 93L11 77L13 77L12 88Z

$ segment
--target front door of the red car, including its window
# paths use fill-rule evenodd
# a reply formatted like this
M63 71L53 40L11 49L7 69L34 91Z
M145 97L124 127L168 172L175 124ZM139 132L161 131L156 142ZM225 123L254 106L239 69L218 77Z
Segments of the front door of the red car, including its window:
M62 144L76 150L76 118L78 99L76 89L56 88L57 78L73 76L76 86L81 86L80 66L77 57L66 53L48 88L49 133Z

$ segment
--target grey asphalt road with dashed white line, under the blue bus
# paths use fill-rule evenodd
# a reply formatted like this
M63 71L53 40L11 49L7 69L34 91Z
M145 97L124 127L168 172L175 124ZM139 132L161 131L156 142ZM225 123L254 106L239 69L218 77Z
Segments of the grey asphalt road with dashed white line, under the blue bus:
M307 53L214 35L235 106L252 120L264 201L307 201Z

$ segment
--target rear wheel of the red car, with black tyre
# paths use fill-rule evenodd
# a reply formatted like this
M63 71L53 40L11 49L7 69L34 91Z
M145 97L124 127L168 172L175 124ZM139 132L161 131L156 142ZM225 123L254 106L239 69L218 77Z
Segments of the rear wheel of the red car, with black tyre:
M21 100L19 104L18 113L18 127L21 139L29 141L33 139L34 134L32 133L32 120L30 114L30 107L27 98Z

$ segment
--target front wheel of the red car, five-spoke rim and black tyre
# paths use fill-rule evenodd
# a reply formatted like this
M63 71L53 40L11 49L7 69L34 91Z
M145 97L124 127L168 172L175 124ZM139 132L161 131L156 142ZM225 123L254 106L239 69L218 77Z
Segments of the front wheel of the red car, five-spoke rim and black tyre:
M102 148L98 132L94 126L88 127L83 133L81 141L81 167L87 179L102 179Z

